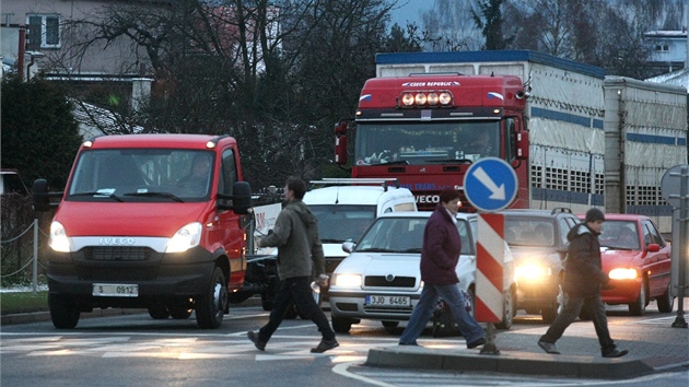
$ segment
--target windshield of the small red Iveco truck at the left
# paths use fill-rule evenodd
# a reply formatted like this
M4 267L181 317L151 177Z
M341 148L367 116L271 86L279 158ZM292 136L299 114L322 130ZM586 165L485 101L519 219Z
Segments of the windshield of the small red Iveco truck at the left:
M69 184L68 200L206 201L213 153L176 149L83 151Z

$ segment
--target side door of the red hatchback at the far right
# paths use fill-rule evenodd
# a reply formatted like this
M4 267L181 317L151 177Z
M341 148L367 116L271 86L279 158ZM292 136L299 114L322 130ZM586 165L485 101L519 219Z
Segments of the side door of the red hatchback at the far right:
M651 220L641 222L643 230L644 249L649 245L661 246L658 251L647 251L644 257L644 271L649 273L649 293L651 297L663 294L670 281L670 246L665 242L657 227Z

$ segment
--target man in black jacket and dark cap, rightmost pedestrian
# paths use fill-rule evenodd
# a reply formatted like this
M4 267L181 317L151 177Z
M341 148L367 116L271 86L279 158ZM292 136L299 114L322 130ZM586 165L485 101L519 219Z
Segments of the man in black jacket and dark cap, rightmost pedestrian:
M593 317L603 356L620 357L628 353L627 350L618 350L610 338L605 305L600 300L600 286L609 281L608 274L602 270L598 243L604 221L603 211L593 208L586 212L584 223L574 226L567 235L570 247L564 262L564 282L562 283L564 307L546 335L538 340L538 345L548 353L560 353L554 343L579 316L582 307L585 307Z

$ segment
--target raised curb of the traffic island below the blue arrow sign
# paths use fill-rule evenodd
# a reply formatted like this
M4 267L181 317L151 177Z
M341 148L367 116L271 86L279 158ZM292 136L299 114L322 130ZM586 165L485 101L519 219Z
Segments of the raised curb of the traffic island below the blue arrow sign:
M642 360L623 357L603 359L505 351L500 354L479 354L474 350L466 351L423 347L371 349L365 365L606 379L628 379L655 372Z

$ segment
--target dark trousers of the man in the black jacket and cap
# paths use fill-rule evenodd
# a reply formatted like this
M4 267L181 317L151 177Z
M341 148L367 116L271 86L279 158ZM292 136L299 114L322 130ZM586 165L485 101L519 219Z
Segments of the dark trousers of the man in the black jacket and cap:
M540 341L549 343L558 341L562 337L562 333L564 333L567 327L576 319L582 308L585 308L592 317L603 354L615 351L616 345L610 338L608 318L605 315L605 305L603 304L603 300L600 300L600 293L588 296L565 294L562 313L556 317L546 335L540 337Z

